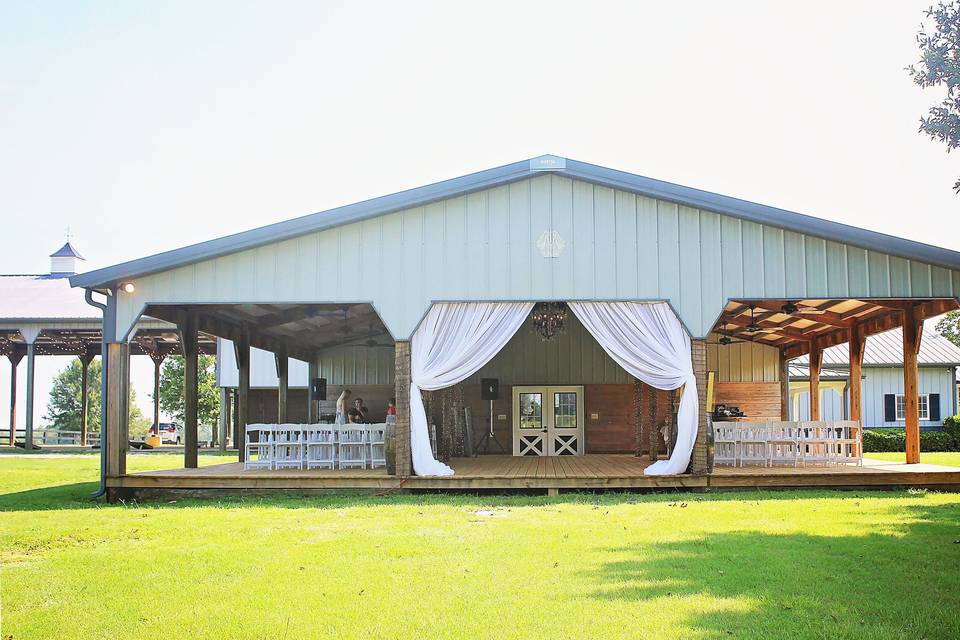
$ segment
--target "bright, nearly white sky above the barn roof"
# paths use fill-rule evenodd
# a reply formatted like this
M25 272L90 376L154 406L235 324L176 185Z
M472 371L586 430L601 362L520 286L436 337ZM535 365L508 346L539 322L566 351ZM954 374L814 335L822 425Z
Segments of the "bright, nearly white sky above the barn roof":
M543 153L960 249L929 0L676 4L0 3L0 272Z

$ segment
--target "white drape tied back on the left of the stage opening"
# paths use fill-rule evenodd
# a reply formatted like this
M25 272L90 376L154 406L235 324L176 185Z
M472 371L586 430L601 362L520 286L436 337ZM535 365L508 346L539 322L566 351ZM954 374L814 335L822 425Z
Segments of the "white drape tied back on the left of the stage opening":
M451 476L430 450L420 391L454 385L490 361L517 332L532 302L434 304L410 343L410 453L418 476Z

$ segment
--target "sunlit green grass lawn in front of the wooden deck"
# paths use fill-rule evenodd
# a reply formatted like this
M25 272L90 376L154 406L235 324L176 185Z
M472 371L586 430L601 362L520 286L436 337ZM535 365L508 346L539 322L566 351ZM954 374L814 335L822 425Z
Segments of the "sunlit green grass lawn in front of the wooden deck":
M104 505L96 465L0 456L0 637L960 637L956 494Z

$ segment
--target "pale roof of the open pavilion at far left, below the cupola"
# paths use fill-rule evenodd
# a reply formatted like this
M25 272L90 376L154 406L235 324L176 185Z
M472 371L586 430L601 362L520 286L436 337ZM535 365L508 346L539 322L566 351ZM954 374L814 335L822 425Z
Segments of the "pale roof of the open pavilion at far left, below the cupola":
M0 275L0 323L67 319L99 324L102 316L66 278Z

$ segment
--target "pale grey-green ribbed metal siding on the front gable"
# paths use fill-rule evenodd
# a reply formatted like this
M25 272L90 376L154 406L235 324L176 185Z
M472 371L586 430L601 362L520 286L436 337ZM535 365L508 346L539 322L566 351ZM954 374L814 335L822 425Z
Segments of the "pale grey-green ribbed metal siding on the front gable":
M730 298L958 293L960 272L540 175L145 276L117 325L148 303L371 302L407 338L432 301L622 299L668 300L701 337Z

